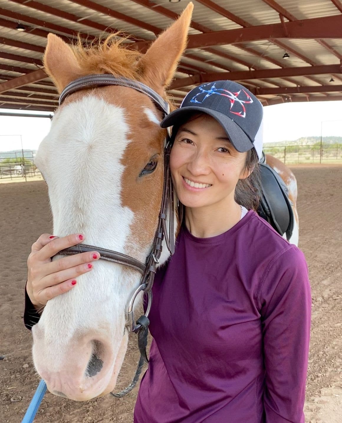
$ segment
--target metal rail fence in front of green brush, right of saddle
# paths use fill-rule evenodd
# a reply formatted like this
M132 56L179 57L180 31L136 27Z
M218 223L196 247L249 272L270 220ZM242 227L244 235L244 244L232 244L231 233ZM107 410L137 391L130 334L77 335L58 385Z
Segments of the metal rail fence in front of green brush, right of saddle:
M342 144L307 144L300 146L264 146L265 154L285 164L342 163Z

